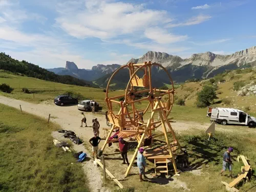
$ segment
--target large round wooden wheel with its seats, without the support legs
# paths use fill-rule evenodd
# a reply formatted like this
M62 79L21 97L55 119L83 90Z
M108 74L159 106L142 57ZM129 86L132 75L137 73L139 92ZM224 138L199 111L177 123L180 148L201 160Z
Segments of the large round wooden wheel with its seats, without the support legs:
M154 79L152 79L151 71L154 67L160 68L166 73L169 84L171 85L171 89L161 90L153 86ZM111 87L110 85L112 84L113 78L120 70L125 68L129 69L130 80L127 83L124 95L109 98L109 91ZM118 99L122 97L124 97L124 101L119 101ZM143 124L142 114L146 114L146 112L152 112L156 104L154 101L154 98L156 97L160 98L163 110L166 116L168 116L174 103L174 83L172 77L170 77L170 74L163 66L161 66L159 63L151 62L145 62L141 64L129 63L122 66L113 73L106 88L105 101L107 102L109 109L108 116L110 122L117 127L120 127L120 129L130 126L137 127ZM147 102L144 109L138 107L138 103L142 101ZM113 104L116 103L120 105L120 110L118 112L113 109ZM152 121L154 121L154 119L152 119ZM161 122L154 124L154 126L158 127L160 124Z

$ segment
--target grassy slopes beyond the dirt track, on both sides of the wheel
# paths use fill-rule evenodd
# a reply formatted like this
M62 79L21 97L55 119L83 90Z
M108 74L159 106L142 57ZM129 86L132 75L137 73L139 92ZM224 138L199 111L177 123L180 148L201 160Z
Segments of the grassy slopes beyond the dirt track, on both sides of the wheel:
M235 77L239 75L241 76L241 74L234 74ZM248 83L251 81L248 78L252 75L254 75L253 72L250 72L250 74L242 76L240 80L245 80ZM226 106L244 110L245 106L249 105L251 110L248 111L248 113L251 116L256 116L256 105L254 105L256 103L256 97L237 96L237 93L232 91L232 85L233 82L236 81L236 78L228 80L229 76L225 77L225 79L227 80L226 82L218 84L219 90L217 92L221 93L218 94L220 100L228 97L228 99L230 99L231 102L229 105L217 104L215 106ZM102 89L54 83L51 81L44 81L31 77L8 74L4 71L0 71L0 83L7 83L12 88L14 88L13 92L10 94L0 92L0 95L4 95L6 97L11 97L14 99L20 99L34 103L40 103L42 101L47 100L52 102L55 96L71 91L74 93L81 94L83 98L95 99L103 107L103 110L106 110L105 93ZM208 122L209 119L206 118L207 108L200 109L196 108L195 106L196 93L202 89L202 86L202 82L189 82L182 84L181 86L176 85L176 98L185 98L186 105L180 106L175 104L173 106L172 113L170 114L170 116L174 117L175 120L196 121L201 123ZM22 88L28 88L30 91L34 92L34 95L24 93L22 91ZM111 91L110 97L121 94L123 94L123 90ZM147 102L141 102L141 104L139 104L137 107L138 109L145 109L146 105ZM119 106L114 105L114 107L116 110L119 110Z

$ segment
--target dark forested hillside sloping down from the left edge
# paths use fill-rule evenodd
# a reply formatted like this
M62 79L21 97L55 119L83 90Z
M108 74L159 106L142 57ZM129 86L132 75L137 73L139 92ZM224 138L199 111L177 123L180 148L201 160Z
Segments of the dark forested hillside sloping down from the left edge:
M21 73L28 77L35 77L47 81L74 84L76 86L92 86L88 81L77 79L69 75L56 75L53 72L40 68L39 66L25 60L18 61L13 59L10 55L6 55L5 53L0 53L0 69L13 73Z

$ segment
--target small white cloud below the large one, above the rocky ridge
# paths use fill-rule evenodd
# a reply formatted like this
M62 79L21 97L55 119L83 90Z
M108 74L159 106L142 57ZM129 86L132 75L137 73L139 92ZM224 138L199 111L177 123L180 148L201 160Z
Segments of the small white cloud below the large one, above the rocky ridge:
M146 29L144 34L147 38L152 39L159 44L171 44L173 42L183 41L188 38L187 35L175 35L160 28Z

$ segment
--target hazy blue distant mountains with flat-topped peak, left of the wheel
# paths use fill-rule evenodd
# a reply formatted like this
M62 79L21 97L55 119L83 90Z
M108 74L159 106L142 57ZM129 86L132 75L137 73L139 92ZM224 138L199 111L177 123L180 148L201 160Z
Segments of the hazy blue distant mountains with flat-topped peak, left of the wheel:
M93 81L104 75L113 73L118 69L120 65L100 65L93 66L91 70L88 69L78 69L74 62L66 61L66 68L53 68L47 69L48 71L54 72L58 75L70 75L79 79Z

